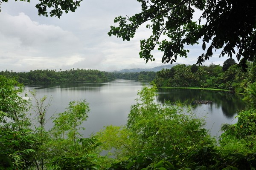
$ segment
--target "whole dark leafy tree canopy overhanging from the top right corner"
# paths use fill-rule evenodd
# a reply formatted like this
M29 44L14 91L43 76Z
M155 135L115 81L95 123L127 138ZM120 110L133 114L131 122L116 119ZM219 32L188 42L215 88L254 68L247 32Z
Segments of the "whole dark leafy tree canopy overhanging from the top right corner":
M130 40L140 26L152 29L152 35L140 41L140 58L146 62L155 60L151 51L157 45L157 49L163 52L162 62L172 64L177 56L187 57L189 50L185 45L198 44L201 40L203 50L207 50L198 57L197 64L208 60L213 55L212 50L216 49L222 49L220 57L227 55L231 58L236 54L243 68L246 68L246 61L256 59L254 0L137 1L141 3L142 11L132 17L116 17L114 23L119 23L119 26L111 26L108 35ZM196 9L202 11L198 22L193 21ZM206 20L206 23L201 20ZM160 37L166 39L160 41Z

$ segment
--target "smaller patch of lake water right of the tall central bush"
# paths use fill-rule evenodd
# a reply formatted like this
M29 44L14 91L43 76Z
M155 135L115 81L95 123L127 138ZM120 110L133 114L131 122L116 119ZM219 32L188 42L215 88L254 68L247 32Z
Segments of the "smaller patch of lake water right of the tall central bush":
M198 117L206 117L206 128L212 135L221 135L221 124L237 122L237 112L243 110L245 104L239 96L230 92L200 89L160 89L157 101L180 101L192 103L195 100L212 101L210 104L192 104Z

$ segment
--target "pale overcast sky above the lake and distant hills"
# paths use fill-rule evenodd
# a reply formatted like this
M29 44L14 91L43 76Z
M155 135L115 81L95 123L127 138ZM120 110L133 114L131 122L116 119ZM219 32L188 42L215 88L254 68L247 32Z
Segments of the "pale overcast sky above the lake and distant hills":
M140 40L147 39L151 30L140 28L130 41L123 41L108 32L118 16L140 12L136 0L83 0L76 12L58 17L38 16L35 5L9 0L1 3L0 12L0 71L28 72L36 69L98 69L114 71L132 68L153 68L163 65L162 52L154 50L156 61L139 57ZM188 46L188 58L177 63L195 64L204 53L201 44ZM220 64L216 52L204 65Z

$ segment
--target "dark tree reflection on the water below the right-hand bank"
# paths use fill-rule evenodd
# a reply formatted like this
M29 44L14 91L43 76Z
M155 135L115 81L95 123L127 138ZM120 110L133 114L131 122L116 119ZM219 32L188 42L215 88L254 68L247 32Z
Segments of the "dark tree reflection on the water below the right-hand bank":
M192 104L195 100L212 101L216 107L222 109L227 118L233 117L238 110L245 107L239 97L230 92L201 90L201 89L159 89L157 101L164 104L165 101ZM195 105L196 108L197 105Z

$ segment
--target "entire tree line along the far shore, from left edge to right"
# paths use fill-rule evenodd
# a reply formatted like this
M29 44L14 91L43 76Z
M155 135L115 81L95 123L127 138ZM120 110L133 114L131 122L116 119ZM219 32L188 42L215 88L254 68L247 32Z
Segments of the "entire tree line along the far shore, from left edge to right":
M0 75L15 78L23 84L49 84L60 82L107 82L114 79L147 81L157 87L201 87L226 89L242 94L244 87L256 81L256 66L247 62L242 69L234 59L228 58L223 66L177 64L171 69L158 72L105 72L93 69L70 69L65 71L34 70L29 72L1 71Z

